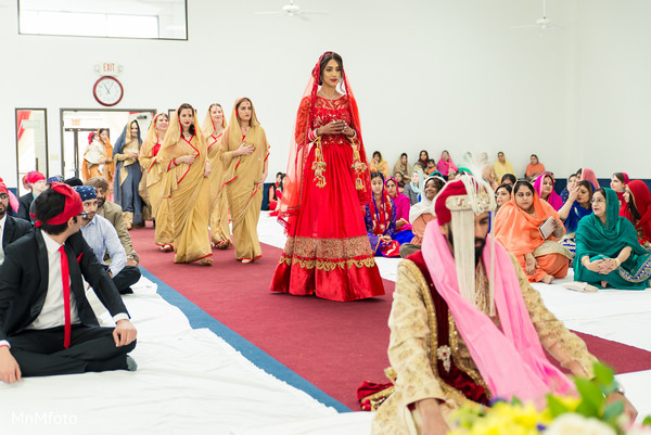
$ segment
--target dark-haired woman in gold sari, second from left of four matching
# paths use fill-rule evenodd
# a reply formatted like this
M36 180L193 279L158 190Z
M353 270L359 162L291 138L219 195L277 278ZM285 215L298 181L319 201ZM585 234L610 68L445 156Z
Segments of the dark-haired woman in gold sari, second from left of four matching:
M174 263L201 260L202 266L210 266L210 162L206 141L196 126L196 112L188 103L171 116L158 154L167 170L161 196L169 199L173 215Z

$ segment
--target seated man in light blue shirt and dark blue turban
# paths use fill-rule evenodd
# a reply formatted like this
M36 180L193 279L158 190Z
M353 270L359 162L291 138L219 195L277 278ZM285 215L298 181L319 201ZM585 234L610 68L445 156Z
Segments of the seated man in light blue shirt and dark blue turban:
M92 248L98 261L104 266L120 294L133 293L131 285L140 280L140 269L127 266L127 254L111 222L97 215L98 195L92 185L77 185L75 191L81 197L81 234ZM104 265L104 255L108 253L111 266Z

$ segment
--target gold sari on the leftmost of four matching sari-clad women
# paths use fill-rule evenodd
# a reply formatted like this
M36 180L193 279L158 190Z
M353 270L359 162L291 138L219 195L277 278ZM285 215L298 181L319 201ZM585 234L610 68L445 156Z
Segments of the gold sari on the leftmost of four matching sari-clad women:
M140 196L142 196L143 200L145 200L145 195L148 197L152 217L156 221L154 242L157 245L163 246L166 244L174 244L174 230L171 228L173 219L168 199L162 197L161 195L164 187L163 178L167 167L158 162L158 155L154 153L155 146L161 142L155 128L156 118L158 116L161 116L161 114L156 115L150 125L144 143L140 148L140 156L138 159L142 167L142 180L140 187L144 187ZM143 207L142 217L146 219L144 215Z

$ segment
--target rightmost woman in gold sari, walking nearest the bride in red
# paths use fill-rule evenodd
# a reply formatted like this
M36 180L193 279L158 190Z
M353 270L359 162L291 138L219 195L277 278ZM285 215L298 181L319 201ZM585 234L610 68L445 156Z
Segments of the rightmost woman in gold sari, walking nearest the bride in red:
M220 142L219 157L226 168L224 184L231 210L235 258L251 263L263 256L257 223L268 172L269 144L250 99L235 101Z

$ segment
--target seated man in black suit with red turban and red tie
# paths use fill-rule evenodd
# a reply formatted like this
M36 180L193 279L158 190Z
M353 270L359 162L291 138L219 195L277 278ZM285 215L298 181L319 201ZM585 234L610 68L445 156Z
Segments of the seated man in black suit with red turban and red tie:
M135 370L136 328L115 284L79 232L81 199L52 183L35 200L36 229L0 266L0 381ZM62 279L63 277L63 279ZM100 328L81 278L116 322Z

